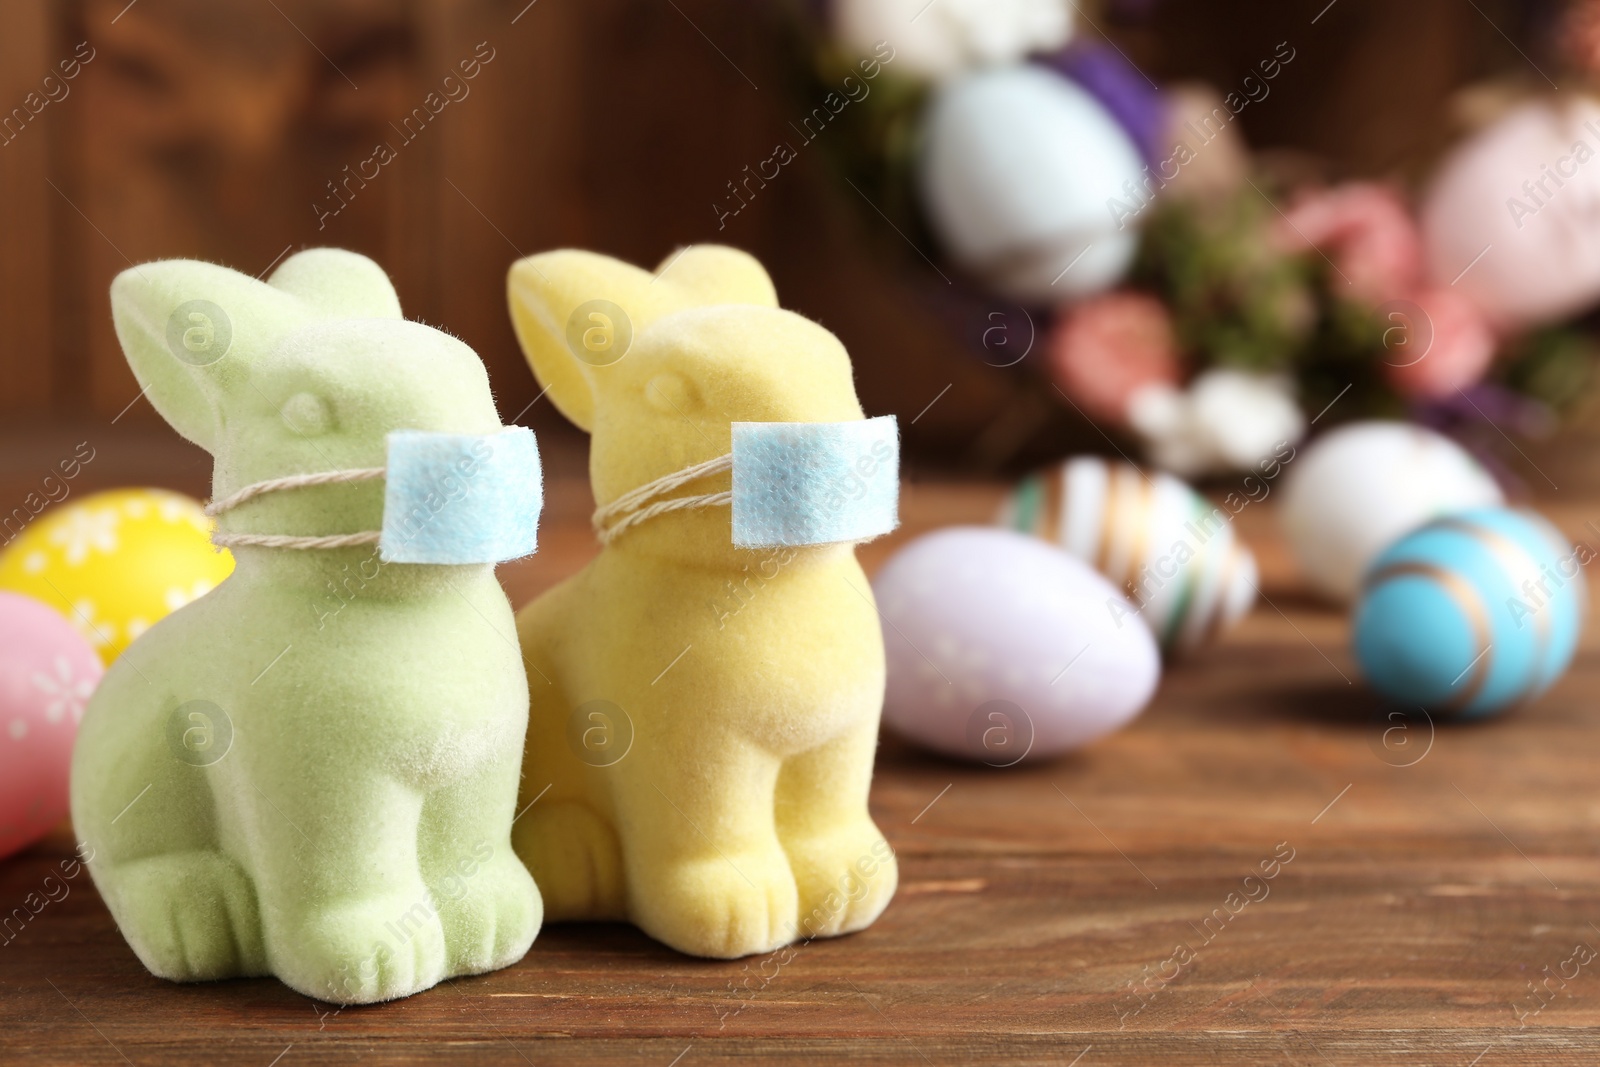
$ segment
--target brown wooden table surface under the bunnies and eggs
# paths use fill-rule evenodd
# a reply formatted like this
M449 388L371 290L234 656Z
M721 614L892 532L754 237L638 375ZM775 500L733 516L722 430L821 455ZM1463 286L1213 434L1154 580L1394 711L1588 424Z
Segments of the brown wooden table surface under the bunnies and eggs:
M1587 533L1600 506L1562 496L1549 514ZM869 568L997 498L914 485ZM885 739L872 808L901 889L866 933L778 968L547 926L514 968L336 1011L275 981L150 977L78 875L0 945L0 1064L1600 1062L1594 637L1522 713L1386 736L1270 507L1238 517L1270 603L1128 729L1003 771ZM586 509L581 483L550 486L541 555L506 573L517 603L589 557ZM69 843L0 862L0 913ZM1222 923L1230 894L1251 899Z

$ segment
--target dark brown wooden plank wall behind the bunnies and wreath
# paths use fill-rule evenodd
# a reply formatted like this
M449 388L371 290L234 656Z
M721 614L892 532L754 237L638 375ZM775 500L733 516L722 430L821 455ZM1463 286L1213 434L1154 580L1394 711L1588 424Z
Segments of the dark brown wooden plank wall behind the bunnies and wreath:
M378 258L408 314L483 355L510 414L536 395L502 304L512 259L582 245L648 264L723 240L762 256L786 306L843 338L870 411L915 414L950 387L907 426L914 458L992 470L1099 442L1037 384L1043 346L995 370L931 314L946 294L923 250L837 179L829 144L803 149L718 229L726 182L813 104L797 88L794 3L0 2L0 107L78 42L96 54L69 98L0 147L0 414L155 419L130 408L138 390L106 304L117 270L194 256L258 274L317 243ZM1138 24L1118 18L1128 6L1088 3L1080 26L1112 32L1157 78L1229 86L1293 42L1293 77L1245 128L1338 173L1416 171L1448 134L1456 85L1499 69L1534 78L1501 29L1547 62L1512 0L1147 3L1155 14ZM494 59L470 96L402 142L395 123L480 42ZM318 226L328 182L379 141L397 158Z

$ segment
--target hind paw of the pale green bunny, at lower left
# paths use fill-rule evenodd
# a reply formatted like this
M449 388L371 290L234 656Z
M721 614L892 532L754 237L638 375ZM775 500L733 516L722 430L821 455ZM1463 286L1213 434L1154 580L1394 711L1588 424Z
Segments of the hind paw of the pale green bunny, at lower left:
M256 893L214 851L150 856L99 872L139 961L174 982L266 974Z

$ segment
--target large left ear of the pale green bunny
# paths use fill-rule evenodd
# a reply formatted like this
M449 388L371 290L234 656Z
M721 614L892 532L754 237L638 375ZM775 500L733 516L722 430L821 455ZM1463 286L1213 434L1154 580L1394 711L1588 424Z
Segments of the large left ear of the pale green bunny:
M123 270L110 283L112 322L144 395L173 429L213 451L222 394L253 355L310 318L294 296L194 259Z

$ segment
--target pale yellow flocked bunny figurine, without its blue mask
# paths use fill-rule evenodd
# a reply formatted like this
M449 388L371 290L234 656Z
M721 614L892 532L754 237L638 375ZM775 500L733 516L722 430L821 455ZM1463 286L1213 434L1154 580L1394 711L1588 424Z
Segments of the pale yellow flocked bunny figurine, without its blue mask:
M845 349L779 310L742 253L694 246L656 275L546 253L512 267L509 299L534 374L592 435L602 504L728 453L733 422L862 418ZM632 326L603 366L566 339L595 299ZM680 494L726 488L725 472ZM883 912L896 865L867 814L883 638L853 545L736 549L726 506L670 512L526 606L517 630L531 697L520 803L538 803L514 843L550 918L626 918L733 958Z

